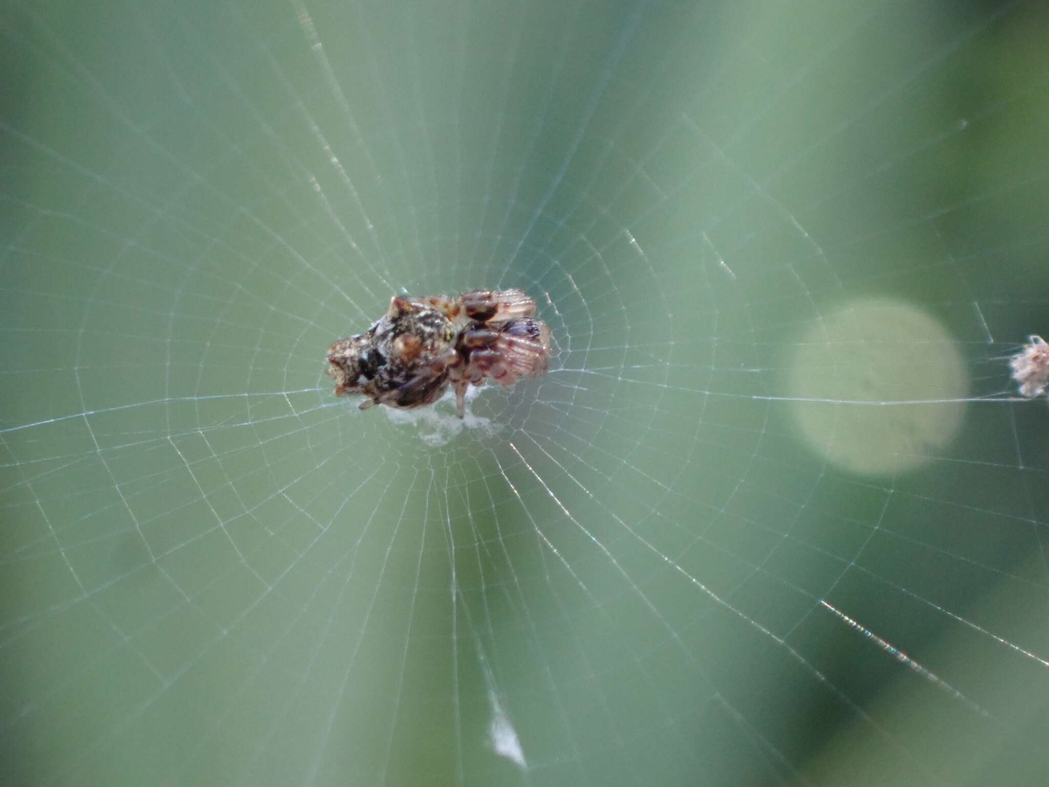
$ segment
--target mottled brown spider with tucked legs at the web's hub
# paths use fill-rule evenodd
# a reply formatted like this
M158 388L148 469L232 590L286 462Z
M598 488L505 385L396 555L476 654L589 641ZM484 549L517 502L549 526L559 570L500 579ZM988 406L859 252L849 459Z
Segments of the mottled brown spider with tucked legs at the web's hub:
M367 397L362 410L422 407L452 385L463 418L468 385L537 377L549 357L550 329L535 319L534 300L519 290L472 290L457 298L394 296L370 328L328 348L327 375L336 396Z

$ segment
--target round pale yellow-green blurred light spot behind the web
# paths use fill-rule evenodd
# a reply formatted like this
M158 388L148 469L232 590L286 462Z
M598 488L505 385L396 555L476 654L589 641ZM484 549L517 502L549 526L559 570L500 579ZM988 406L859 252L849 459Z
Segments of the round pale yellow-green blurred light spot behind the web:
M954 337L919 307L881 298L825 314L797 340L788 374L806 440L862 474L943 455L968 391Z

